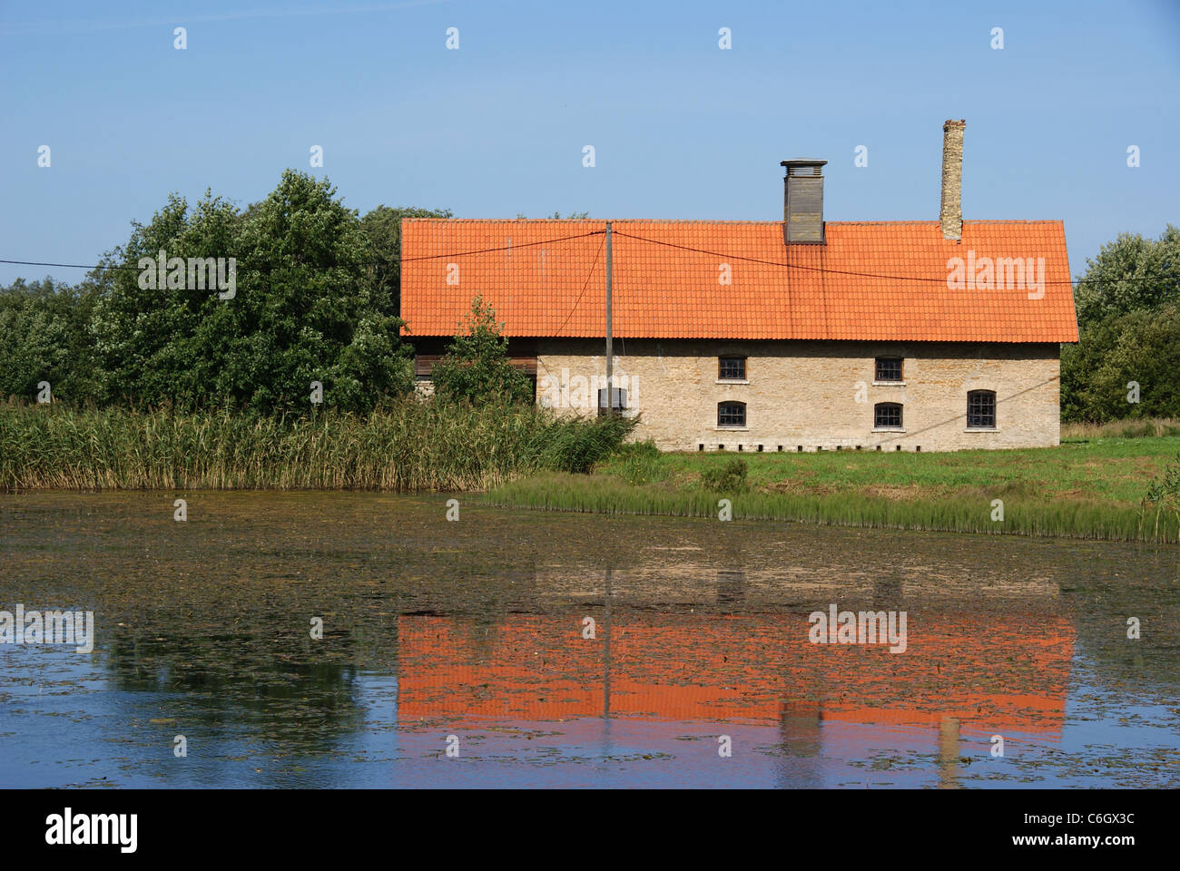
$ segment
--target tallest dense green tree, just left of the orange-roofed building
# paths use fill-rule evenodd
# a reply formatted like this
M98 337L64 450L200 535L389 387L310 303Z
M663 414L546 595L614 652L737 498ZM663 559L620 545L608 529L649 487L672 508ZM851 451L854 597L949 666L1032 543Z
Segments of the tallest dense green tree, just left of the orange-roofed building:
M227 309L237 329L222 394L258 411L307 410L320 381L326 404L362 411L412 388L392 295L371 281L372 245L335 194L327 179L287 170L245 222L245 300Z

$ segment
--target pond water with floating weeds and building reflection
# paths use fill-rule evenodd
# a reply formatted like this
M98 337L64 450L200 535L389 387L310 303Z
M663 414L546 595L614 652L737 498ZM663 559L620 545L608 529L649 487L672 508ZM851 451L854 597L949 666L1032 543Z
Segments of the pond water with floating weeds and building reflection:
M1174 546L447 498L0 496L0 786L1180 786Z

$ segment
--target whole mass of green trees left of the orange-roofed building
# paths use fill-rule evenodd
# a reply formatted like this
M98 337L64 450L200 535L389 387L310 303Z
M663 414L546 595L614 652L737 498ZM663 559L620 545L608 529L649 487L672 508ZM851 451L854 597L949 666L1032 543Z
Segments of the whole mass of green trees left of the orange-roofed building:
M327 179L294 170L245 209L173 194L79 286L0 288L0 397L30 400L47 380L73 404L303 413L319 381L324 406L372 410L413 389L400 222L450 216L382 205L360 218ZM140 261L160 251L224 258L227 279L232 258L232 294L188 268L148 280Z

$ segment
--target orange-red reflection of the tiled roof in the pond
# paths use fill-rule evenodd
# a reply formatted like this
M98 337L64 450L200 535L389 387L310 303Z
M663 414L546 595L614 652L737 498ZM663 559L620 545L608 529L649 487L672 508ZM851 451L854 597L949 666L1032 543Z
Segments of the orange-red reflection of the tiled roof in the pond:
M399 714L556 720L603 713L605 627L513 617L491 630L400 617ZM904 654L812 644L806 615L628 615L610 631L610 710L674 720L937 723L1058 732L1074 631L1060 618L910 614Z

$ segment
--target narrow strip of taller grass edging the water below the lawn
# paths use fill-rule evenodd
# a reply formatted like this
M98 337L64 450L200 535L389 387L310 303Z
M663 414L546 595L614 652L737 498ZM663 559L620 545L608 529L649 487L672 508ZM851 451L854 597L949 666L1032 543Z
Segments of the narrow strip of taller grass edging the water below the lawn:
M615 476L536 474L490 492L492 505L586 511L607 515L669 515L716 519L728 498L734 519L788 520L835 526L942 530L1107 541L1180 542L1180 518L1166 517L1154 531L1141 525L1136 505L1089 499L1005 498L1004 519L992 520L988 498L940 496L890 499L861 491L815 493L714 493L630 486Z

